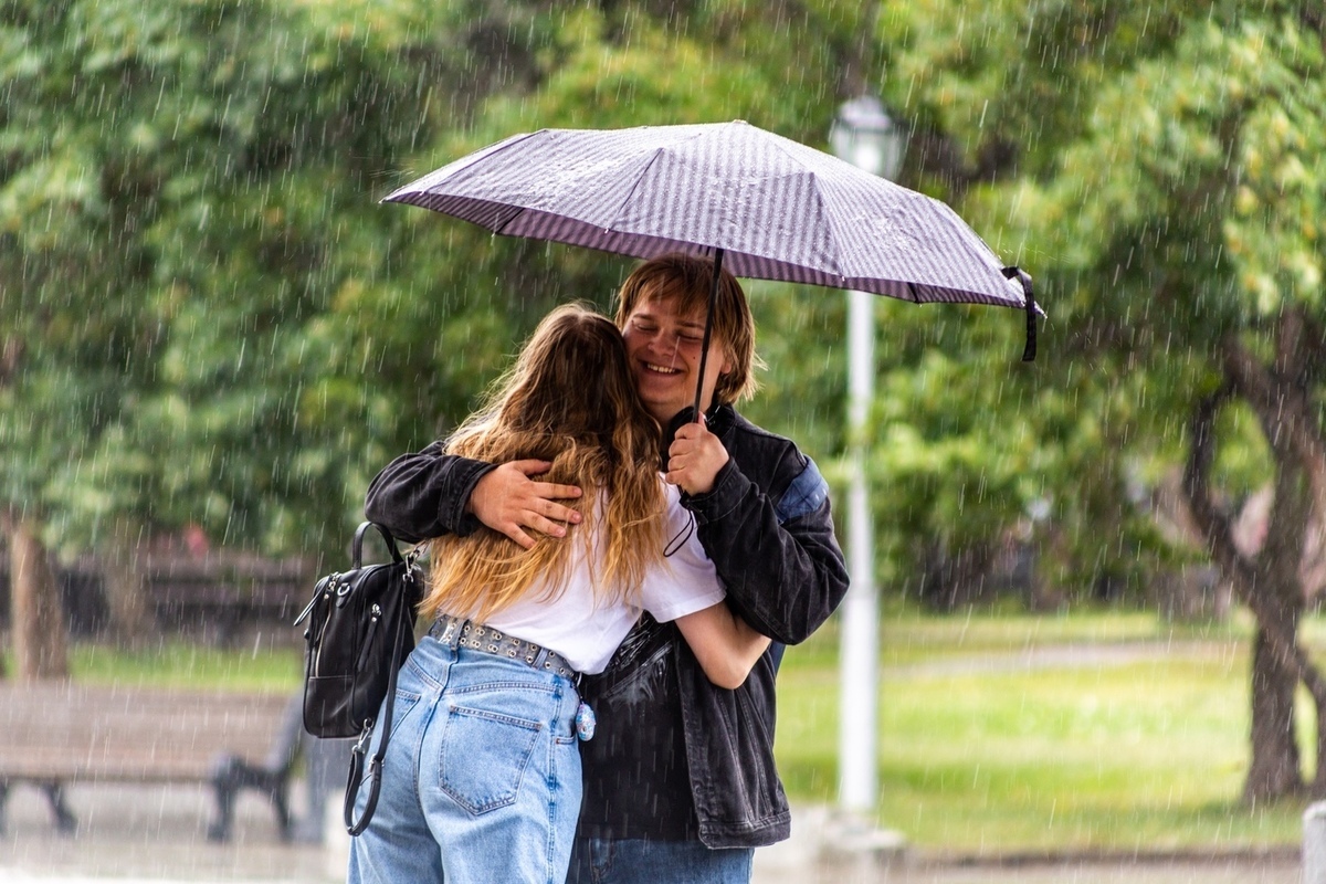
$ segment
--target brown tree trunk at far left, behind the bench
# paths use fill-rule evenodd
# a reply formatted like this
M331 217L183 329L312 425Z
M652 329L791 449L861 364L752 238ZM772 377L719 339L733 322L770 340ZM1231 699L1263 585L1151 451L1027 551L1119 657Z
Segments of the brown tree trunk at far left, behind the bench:
M15 676L68 679L69 640L56 571L32 525L13 520L8 527Z

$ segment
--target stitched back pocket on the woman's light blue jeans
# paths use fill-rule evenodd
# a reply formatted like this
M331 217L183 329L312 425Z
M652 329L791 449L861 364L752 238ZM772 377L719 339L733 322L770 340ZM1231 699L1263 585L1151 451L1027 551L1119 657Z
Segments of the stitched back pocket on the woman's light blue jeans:
M513 804L541 730L537 721L450 706L439 787L471 814Z

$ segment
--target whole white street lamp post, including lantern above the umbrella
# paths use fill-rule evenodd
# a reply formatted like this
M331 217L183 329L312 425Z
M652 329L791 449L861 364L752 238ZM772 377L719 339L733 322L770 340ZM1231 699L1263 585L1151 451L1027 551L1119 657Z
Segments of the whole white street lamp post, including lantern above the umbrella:
M894 180L907 150L907 135L870 97L838 110L829 143L839 159ZM847 571L843 599L841 713L838 725L838 803L849 812L875 806L879 692L879 600L875 591L875 542L866 478L866 441L875 396L875 296L847 293Z

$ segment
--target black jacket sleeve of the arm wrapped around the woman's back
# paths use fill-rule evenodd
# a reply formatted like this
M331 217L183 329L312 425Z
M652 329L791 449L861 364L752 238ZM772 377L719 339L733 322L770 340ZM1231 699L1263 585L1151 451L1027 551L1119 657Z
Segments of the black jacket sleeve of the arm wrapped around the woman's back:
M420 452L400 455L374 476L363 517L406 543L472 534L479 520L465 512L465 502L491 469L492 464L443 453L443 444L435 441Z

